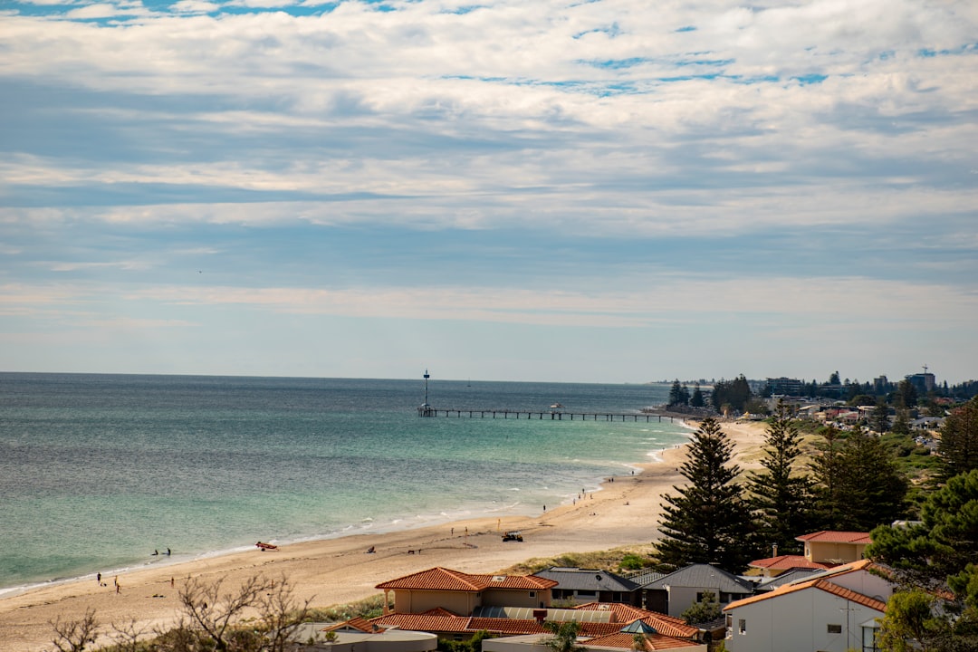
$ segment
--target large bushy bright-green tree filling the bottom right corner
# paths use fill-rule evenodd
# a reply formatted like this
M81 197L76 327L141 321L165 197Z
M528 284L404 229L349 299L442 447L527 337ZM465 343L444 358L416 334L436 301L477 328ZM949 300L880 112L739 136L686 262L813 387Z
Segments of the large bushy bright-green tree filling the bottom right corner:
M978 469L948 480L923 503L920 517L906 528L874 529L867 546L867 557L892 569L900 587L881 636L910 638L935 652L978 649Z

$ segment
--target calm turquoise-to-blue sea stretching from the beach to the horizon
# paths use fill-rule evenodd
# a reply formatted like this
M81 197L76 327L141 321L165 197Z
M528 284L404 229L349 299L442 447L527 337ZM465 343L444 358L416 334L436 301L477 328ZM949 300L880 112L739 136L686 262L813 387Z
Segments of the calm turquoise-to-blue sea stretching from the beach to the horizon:
M442 408L633 413L669 387L432 380L428 391ZM0 594L258 540L539 513L687 432L420 418L423 400L422 379L0 373Z

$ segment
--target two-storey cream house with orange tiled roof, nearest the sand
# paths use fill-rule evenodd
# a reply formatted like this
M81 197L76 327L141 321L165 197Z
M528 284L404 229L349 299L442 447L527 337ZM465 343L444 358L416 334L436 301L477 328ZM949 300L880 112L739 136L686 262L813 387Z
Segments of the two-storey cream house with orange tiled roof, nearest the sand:
M471 575L448 568L430 568L378 584L384 594L394 593L394 613L422 614L432 609L469 616L483 606L547 609L556 581L535 575Z

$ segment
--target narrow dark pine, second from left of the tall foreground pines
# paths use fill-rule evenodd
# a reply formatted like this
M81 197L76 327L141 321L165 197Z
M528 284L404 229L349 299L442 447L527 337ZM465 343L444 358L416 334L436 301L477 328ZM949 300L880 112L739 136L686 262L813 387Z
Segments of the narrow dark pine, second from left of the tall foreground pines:
M782 553L800 553L801 545L795 538L810 530L812 481L807 475L793 472L801 456L800 442L798 427L787 406L779 401L768 423L761 458L765 470L747 473L746 489L754 514L753 539L757 549L771 549L777 544Z

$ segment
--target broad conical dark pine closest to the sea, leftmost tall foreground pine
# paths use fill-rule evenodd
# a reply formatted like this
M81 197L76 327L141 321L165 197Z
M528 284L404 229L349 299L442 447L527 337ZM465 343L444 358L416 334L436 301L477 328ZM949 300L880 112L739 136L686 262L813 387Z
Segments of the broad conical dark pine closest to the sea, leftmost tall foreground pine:
M689 480L663 495L663 515L656 544L659 562L669 567L717 563L738 571L749 561L745 540L750 531L742 489L734 482L740 468L729 465L733 444L713 418L703 419L692 435L680 467Z

